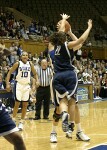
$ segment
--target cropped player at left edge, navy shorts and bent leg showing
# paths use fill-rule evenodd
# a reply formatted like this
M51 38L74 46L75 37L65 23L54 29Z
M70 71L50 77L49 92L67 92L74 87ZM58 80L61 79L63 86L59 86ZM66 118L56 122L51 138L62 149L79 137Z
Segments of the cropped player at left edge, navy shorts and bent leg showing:
M2 50L2 56L4 55L5 50ZM1 62L3 58L2 56L0 55ZM3 136L8 142L13 144L14 150L26 150L24 141L17 131L19 131L19 129L16 127L14 121L6 111L4 104L0 101L0 136Z

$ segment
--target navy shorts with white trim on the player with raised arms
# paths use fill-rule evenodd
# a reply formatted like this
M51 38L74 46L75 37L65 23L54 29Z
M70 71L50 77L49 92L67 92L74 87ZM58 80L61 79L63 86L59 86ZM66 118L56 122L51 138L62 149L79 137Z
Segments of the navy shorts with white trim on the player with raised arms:
M57 100L65 96L76 99L78 78L75 71L63 71L56 73L53 77L53 88L56 92Z

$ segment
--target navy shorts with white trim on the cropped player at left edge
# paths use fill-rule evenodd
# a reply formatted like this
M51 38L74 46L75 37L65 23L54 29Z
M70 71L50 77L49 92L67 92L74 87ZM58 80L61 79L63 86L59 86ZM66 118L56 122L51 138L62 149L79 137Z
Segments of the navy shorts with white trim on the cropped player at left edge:
M19 131L14 121L6 111L4 104L0 106L0 136Z

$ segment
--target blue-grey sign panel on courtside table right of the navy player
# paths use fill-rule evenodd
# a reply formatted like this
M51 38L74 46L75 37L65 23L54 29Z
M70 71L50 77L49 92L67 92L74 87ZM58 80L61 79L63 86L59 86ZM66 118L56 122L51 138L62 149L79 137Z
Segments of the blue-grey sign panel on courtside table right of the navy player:
M77 99L80 100L88 100L88 88L86 87L78 87L77 90Z

